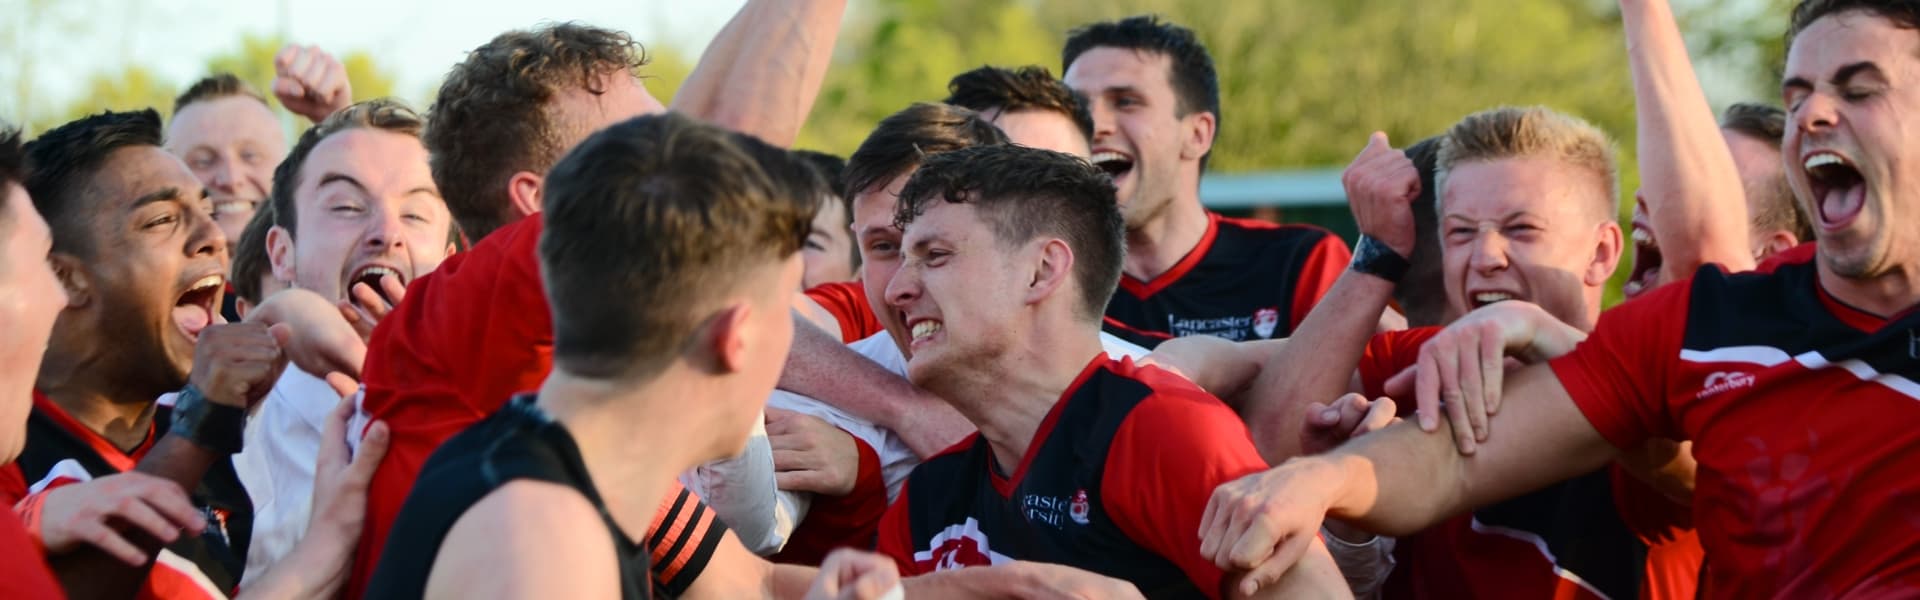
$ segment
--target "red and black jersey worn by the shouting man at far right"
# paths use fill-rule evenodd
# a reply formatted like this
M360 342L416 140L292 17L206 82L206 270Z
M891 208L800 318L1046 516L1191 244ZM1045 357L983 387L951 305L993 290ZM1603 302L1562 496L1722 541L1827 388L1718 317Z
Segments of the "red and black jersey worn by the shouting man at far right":
M1920 312L1849 308L1793 254L1609 310L1553 371L1615 446L1693 440L1707 596L1920 596Z

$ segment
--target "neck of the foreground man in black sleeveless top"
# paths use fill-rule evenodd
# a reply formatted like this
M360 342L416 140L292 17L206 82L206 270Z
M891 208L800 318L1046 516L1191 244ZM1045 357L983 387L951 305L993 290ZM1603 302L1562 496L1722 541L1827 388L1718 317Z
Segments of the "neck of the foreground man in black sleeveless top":
M645 538L674 477L705 462L695 448L710 444L697 427L660 417L678 412L672 398L707 392L670 379L636 387L553 369L540 385L540 408L572 435L607 513L636 540Z

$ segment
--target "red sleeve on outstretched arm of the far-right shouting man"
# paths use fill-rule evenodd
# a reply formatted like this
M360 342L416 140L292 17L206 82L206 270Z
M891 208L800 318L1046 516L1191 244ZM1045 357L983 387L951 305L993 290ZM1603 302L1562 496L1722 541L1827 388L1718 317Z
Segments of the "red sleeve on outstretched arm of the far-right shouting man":
M1692 290L1692 279L1676 281L1615 306L1599 313L1580 346L1549 362L1567 396L1607 442L1638 448L1651 437L1682 438L1667 410L1667 383L1680 356Z

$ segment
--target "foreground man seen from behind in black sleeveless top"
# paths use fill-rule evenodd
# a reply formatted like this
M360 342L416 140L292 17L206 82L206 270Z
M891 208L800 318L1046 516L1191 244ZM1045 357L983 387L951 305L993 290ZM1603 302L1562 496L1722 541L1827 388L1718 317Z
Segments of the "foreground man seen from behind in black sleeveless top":
M791 162L668 113L553 167L540 263L555 369L434 452L371 598L649 596L655 506L676 473L745 446L791 342L820 198L776 183L766 156Z

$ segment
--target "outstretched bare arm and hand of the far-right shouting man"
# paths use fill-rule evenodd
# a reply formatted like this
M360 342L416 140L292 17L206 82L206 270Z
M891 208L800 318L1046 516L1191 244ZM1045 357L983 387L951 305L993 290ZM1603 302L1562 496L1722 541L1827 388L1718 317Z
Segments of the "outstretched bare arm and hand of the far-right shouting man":
M1475 456L1453 452L1444 433L1400 423L1219 487L1200 523L1200 552L1225 569L1273 577L1308 550L1327 517L1409 535L1592 471L1615 456L1548 365L1515 373L1507 396L1501 419L1511 427Z

